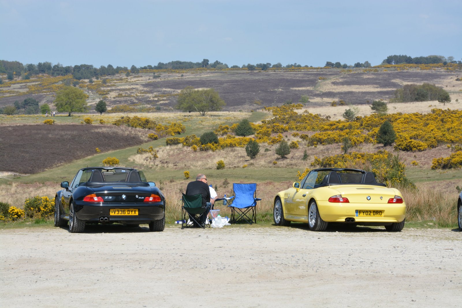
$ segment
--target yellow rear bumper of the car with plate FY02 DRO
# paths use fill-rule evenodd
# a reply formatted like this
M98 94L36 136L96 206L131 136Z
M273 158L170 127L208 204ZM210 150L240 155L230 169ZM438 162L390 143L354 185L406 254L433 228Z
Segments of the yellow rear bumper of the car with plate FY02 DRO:
M345 222L353 217L355 222L402 222L406 217L406 204L389 203L330 203L318 201L319 214L325 222ZM356 210L382 211L382 216L359 216Z

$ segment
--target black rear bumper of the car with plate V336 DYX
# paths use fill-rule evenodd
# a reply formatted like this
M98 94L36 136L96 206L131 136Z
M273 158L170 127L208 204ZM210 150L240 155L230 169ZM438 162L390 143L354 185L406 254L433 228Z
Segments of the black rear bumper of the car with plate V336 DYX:
M138 215L110 215L110 209L138 209ZM111 203L107 204L88 204L76 203L75 214L77 218L83 221L100 222L101 217L107 217L111 222L133 222L146 223L154 220L160 220L165 216L165 205L163 203Z

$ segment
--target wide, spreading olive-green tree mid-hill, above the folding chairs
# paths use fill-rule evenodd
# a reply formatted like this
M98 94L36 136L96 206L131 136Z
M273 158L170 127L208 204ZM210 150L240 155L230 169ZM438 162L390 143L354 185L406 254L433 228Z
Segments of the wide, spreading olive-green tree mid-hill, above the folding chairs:
M225 101L214 89L195 90L194 87L187 86L180 91L176 109L196 111L205 116L210 111L220 111L225 105Z

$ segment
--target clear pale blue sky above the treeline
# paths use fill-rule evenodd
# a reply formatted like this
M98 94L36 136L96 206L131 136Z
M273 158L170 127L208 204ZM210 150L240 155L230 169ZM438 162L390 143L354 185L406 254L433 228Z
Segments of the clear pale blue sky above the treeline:
M461 0L0 0L0 60L229 66L462 58Z

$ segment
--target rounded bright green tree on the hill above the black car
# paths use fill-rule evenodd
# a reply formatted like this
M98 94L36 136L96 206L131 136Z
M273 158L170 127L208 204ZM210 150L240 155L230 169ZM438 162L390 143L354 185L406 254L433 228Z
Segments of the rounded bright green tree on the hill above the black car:
M87 110L87 98L88 95L81 89L67 86L56 92L56 110L58 112L68 112L68 117L70 117L73 112L85 112Z

